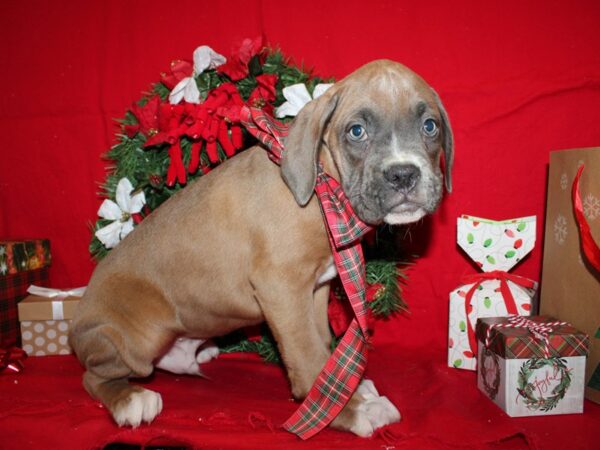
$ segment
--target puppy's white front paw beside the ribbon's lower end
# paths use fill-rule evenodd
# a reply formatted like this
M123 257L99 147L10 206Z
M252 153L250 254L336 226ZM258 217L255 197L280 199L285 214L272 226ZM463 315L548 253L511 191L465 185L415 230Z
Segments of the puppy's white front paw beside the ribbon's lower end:
M400 412L385 396L380 396L371 380L361 381L355 397L347 408L344 417L334 426L351 431L361 436L369 437L377 428L398 422Z

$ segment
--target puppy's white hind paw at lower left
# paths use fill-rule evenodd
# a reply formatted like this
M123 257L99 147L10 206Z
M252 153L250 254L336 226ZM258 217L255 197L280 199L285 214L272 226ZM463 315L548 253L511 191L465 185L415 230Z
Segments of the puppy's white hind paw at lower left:
M150 423L162 411L162 398L159 393L148 389L132 392L120 401L112 411L115 422L121 427L138 427L142 421Z

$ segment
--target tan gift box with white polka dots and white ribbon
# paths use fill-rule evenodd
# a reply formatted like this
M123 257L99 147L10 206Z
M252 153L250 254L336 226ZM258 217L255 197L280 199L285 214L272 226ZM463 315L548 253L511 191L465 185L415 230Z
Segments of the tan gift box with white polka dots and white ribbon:
M66 355L69 324L83 294L83 288L70 291L31 286L19 303L23 350L29 356Z

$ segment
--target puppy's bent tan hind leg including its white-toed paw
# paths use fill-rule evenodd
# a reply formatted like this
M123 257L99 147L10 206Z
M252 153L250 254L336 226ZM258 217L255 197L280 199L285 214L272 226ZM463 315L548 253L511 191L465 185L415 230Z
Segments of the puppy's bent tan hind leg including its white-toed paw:
M104 309L101 305L108 302L102 300L118 287L117 282L106 287L102 299L82 300L85 303L73 321L70 343L86 368L83 384L89 394L106 406L119 425L137 427L161 412L162 399L156 392L130 385L128 380L152 373L155 358L175 339L175 320L162 297L152 295L152 289L143 285L129 290L126 297L117 297L125 300ZM141 301L146 305L143 319L136 312Z

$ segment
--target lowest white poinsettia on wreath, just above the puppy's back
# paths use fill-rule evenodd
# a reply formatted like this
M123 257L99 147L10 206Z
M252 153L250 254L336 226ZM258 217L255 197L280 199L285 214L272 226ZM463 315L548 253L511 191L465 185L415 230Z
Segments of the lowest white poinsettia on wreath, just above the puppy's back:
M98 215L113 222L96 231L96 237L106 248L115 247L133 231L132 214L139 213L146 204L144 192L131 195L133 186L127 178L121 178L117 185L116 203L106 199L98 209Z

